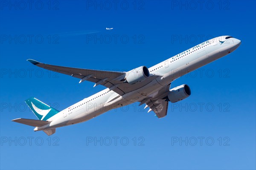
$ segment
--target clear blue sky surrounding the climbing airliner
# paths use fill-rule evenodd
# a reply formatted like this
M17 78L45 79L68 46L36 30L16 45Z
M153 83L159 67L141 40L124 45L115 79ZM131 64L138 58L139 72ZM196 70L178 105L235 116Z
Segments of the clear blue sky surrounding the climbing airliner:
M1 169L256 169L255 1L0 1ZM113 27L112 31L105 30ZM151 67L212 37L241 46L180 77L192 95L157 119L138 103L48 137L24 100L58 110L93 88L26 59L77 68Z

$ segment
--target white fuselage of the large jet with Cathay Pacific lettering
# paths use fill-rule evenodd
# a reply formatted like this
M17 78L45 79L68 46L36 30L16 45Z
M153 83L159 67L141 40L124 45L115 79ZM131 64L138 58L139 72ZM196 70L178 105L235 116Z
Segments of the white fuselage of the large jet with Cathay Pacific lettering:
M57 113L48 119L48 121L51 121L50 124L36 127L35 131L84 122L113 108L140 101L146 96L154 97L163 86L197 68L224 57L239 47L240 40L233 37L225 40L225 37L227 36L203 42L148 68L150 74L163 76L157 77L142 88L122 96L107 88Z

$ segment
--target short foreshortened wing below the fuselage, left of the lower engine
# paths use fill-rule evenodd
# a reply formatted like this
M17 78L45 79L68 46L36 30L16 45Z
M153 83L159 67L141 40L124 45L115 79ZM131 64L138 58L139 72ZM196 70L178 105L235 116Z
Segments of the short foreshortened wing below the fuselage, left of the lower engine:
M166 101L166 96L169 93L169 89L170 84L158 91L155 96L140 101L140 105L145 103L145 108L149 107L148 112L154 111L158 118L166 116L168 109L168 101Z

